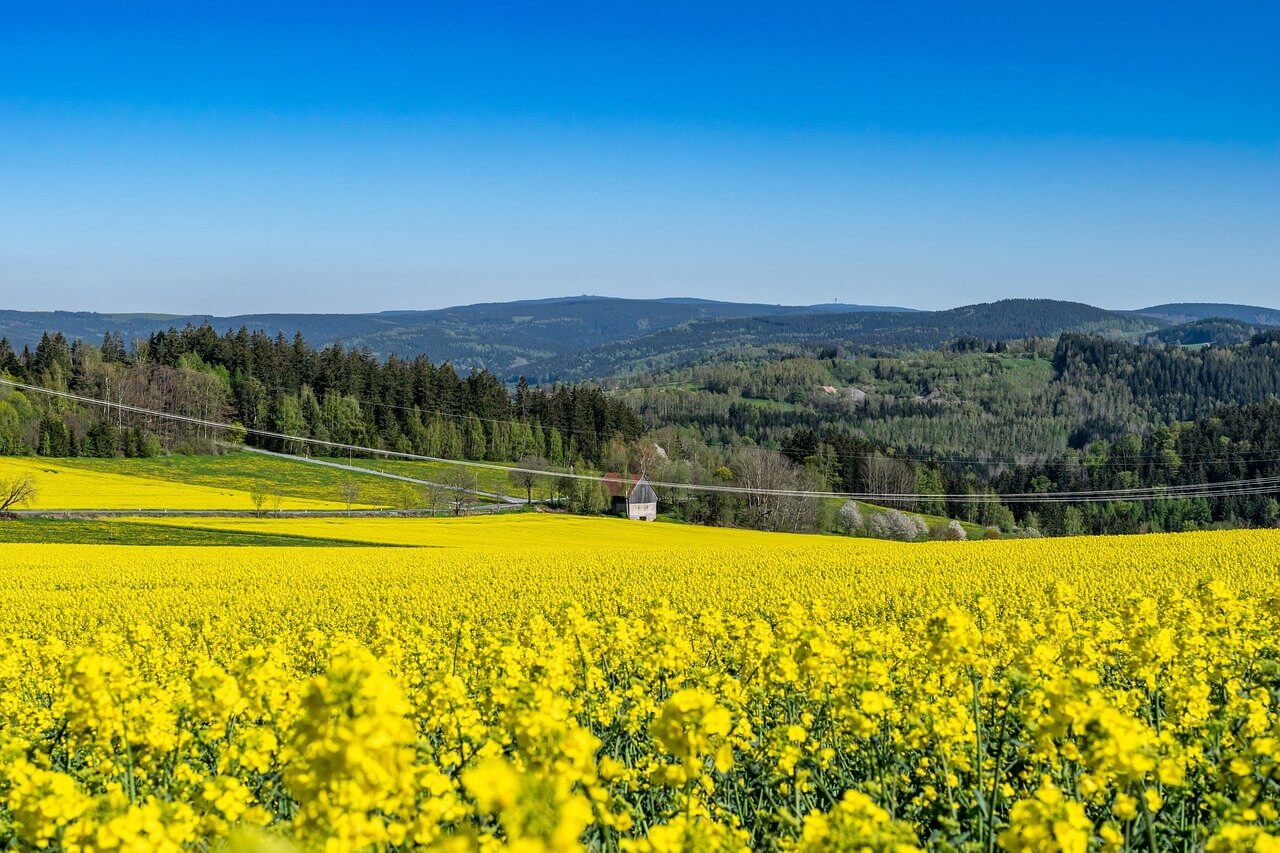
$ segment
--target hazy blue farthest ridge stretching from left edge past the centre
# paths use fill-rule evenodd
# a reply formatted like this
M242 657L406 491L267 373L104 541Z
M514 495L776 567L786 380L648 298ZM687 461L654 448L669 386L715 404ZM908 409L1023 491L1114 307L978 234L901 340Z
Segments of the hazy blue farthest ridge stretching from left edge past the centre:
M367 347L375 356L429 356L460 368L517 373L529 361L552 359L650 332L718 318L812 315L909 309L858 305L754 305L709 300L620 300L576 296L465 305L434 311L379 314L244 314L237 316L165 314L93 314L86 311L0 310L0 337L18 351L35 347L46 333L68 341L101 341L119 333L127 342L156 332L209 324L215 332L265 332L270 337L302 334L319 346Z

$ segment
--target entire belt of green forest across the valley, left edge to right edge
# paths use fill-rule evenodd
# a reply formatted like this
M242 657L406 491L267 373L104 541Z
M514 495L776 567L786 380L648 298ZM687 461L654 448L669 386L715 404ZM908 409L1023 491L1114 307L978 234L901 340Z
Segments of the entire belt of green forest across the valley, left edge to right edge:
M602 389L507 384L486 370L460 375L425 356L379 359L364 348L315 348L301 336L218 334L205 324L156 332L128 348L111 333L100 346L45 334L20 352L0 339L0 374L237 423L250 443L294 453L351 452L323 443L334 442L444 459L534 457L549 471L645 473L709 487L659 487L664 512L704 524L851 529L861 512L838 501L722 487L923 494L883 503L1002 535L1274 525L1280 516L1271 496L998 500L1280 475L1275 329L1201 347L1084 333L960 337L936 350L780 345ZM198 424L0 388L3 453L216 452L223 438ZM607 505L607 496L562 485L566 494L571 485L581 492L584 510Z

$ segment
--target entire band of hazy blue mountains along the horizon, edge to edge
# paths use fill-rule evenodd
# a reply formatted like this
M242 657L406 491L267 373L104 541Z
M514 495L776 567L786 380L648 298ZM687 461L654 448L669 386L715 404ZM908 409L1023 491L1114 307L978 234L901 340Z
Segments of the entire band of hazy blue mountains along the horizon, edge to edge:
M1188 319L1189 318L1189 319ZM584 379L671 366L735 347L771 343L934 347L959 337L1015 339L1065 330L1160 341L1161 329L1208 319L1280 325L1280 310L1216 304L1170 304L1112 311L1083 302L1004 300L942 311L868 305L764 305L691 297L628 300L570 296L485 302L438 310L371 314L244 314L238 316L97 314L0 310L0 337L15 348L45 332L125 342L188 324L219 333L247 328L325 346L367 347L379 356L428 355L500 377ZM1203 334L1197 329L1196 334ZM1217 334L1239 334L1219 329ZM1170 342L1184 337L1165 336ZM1190 342L1190 341L1188 341Z

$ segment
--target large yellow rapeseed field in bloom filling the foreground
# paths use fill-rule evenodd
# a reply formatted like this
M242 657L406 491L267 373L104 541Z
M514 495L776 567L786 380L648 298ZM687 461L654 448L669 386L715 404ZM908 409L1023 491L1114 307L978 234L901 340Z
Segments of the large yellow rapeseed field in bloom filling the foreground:
M168 523L406 547L0 546L18 845L1277 844L1277 532Z

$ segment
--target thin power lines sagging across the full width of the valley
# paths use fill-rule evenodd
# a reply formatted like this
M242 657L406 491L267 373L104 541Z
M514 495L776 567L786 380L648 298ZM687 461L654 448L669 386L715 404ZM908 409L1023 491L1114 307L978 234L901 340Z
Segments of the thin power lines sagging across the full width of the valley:
M607 478L604 476L596 474L580 474L572 470L553 471L545 469L520 467L515 465L498 465L495 462L481 462L476 460L444 459L439 456L426 456L422 453L406 453L402 451L390 451L378 447L364 447L361 444L349 444L346 442L334 442L323 438L310 438L306 435L289 435L287 433L278 433L266 429L242 426L239 424L228 424L224 421L209 420L205 418L193 418L189 415L178 415L174 412L156 411L154 409L143 409L141 406L113 402L109 400L97 400L93 397L86 397L83 394L77 394L68 391L54 391L51 388L32 386L13 379L0 378L0 384L9 386L12 388L19 388L23 391L33 391L36 393L59 397L63 400L74 400L77 402L83 402L87 405L102 406L104 409L108 410L115 409L118 411L128 411L140 415L148 415L152 418L164 418L179 423L191 424L195 426L205 426L209 429L219 429L230 433L244 433L244 434L257 435L261 438L273 438L284 442L332 447L342 451L348 451L352 453L367 453L371 456L385 456L388 459L403 459L419 462L461 465L461 466L489 469L504 473L515 471L515 473L527 473L538 475L553 475L553 476L568 478L575 480L588 480L595 483L607 482ZM1089 489L1089 491L1076 491L1076 492L1015 492L1005 494L968 493L968 492L955 493L955 494L887 493L887 492L819 492L809 489L753 488L753 487L730 485L718 483L650 482L650 485L655 488L686 491L686 492L719 492L728 494L754 494L754 496L768 496L768 497L844 498L844 500L869 501L881 503L883 502L906 503L906 502L940 501L940 500L951 503L997 503L997 502L1089 503L1089 502L1110 502L1110 501L1166 501L1166 500L1196 498L1196 497L1235 497L1235 496L1248 496L1248 494L1270 494L1274 492L1280 492L1280 476L1263 476L1263 478L1243 479L1243 480L1221 480L1217 483L1196 483L1188 485L1137 487L1130 489Z

